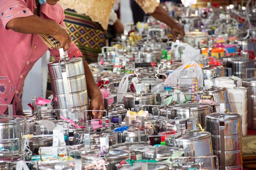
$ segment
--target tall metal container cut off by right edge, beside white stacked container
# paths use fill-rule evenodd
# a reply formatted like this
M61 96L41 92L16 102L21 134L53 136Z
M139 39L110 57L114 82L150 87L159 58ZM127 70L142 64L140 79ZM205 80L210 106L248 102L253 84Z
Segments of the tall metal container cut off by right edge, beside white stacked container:
M243 86L249 88L247 122L249 130L256 130L256 79L244 79Z

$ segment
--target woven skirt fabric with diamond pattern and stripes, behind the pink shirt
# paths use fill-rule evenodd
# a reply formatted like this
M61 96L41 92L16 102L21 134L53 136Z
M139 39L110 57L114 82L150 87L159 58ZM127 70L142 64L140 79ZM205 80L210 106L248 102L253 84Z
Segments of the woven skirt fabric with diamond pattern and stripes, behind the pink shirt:
M64 22L73 42L78 46L88 63L97 62L101 47L105 46L105 32L101 25L74 10L64 11Z

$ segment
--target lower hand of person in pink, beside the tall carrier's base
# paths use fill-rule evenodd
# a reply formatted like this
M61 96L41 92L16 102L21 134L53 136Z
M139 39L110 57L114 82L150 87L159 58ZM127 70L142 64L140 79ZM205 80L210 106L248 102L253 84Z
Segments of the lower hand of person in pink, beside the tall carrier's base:
M90 98L90 109L91 110L104 110L103 99L101 93L98 95L94 95ZM92 111L92 118L94 119L102 119L103 112Z

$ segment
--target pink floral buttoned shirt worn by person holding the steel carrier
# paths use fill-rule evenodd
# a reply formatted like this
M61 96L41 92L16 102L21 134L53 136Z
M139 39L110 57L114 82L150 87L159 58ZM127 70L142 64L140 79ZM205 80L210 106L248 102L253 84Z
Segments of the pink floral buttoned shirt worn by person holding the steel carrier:
M13 104L13 114L22 114L24 81L36 61L49 50L59 58L58 49L49 49L38 34L23 34L7 29L7 23L20 17L33 15L35 0L0 0L0 104ZM63 9L56 5L40 6L40 17L65 26ZM34 23L31 23L34 24ZM80 57L81 52L72 42L69 57ZM7 106L0 106L0 114Z

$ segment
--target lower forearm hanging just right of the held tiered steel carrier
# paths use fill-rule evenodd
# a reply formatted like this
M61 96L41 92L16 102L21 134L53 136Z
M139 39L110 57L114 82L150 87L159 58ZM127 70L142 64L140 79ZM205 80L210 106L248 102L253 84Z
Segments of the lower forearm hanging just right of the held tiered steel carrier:
M85 70L85 79L86 79L86 86L88 91L88 96L92 99L96 95L101 95L101 91L99 90L98 86L96 85L94 78L92 76L92 72L87 64L87 62L83 59L83 66Z

